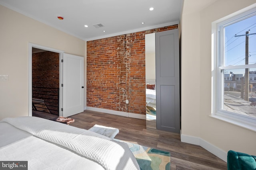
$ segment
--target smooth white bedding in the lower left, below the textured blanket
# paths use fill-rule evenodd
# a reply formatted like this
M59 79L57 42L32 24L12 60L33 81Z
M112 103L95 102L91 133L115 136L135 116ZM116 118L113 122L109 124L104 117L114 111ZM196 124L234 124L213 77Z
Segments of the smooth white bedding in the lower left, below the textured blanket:
M28 161L29 170L104 170L93 160L34 137L8 123L0 123L0 129L1 161ZM2 129L8 130L8 133Z

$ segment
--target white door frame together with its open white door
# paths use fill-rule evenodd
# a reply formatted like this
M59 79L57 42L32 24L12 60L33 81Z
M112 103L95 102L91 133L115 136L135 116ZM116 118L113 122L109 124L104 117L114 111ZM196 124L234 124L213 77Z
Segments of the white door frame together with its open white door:
M57 49L28 43L28 116L32 116L32 49L54 52L59 55L58 116L71 116L84 111L84 57L64 53ZM51 60L51 58L50 58ZM51 62L51 61L50 61ZM57 59L56 59L57 62ZM46 64L47 65L47 64ZM48 77L46 75L44 78ZM42 82L44 80L41 80ZM39 100L40 102L40 100ZM41 101L41 103L44 101ZM55 116L56 117L56 116Z

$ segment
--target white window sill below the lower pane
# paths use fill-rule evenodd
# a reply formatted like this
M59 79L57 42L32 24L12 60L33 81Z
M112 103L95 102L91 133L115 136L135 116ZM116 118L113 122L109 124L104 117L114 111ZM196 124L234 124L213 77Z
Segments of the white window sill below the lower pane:
M231 117L231 116L227 116L227 115L223 115L220 113L216 113L215 115L210 115L210 117L213 117L215 119L219 119L219 120L225 121L227 123L231 123L233 125L243 127L245 129L256 132L256 124L252 123L252 122L244 121L244 120L237 119L235 117Z

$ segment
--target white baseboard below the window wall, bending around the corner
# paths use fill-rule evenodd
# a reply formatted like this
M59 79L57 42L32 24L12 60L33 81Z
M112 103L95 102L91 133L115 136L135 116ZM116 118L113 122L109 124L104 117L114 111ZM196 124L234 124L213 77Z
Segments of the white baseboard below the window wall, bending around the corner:
M192 137L188 135L180 135L180 140L185 143L190 143L194 145L199 145L200 147L208 150L218 158L224 160L227 162L227 152L225 152L222 149L219 149L218 147L212 145L211 143L208 143L204 139L198 138L198 137Z

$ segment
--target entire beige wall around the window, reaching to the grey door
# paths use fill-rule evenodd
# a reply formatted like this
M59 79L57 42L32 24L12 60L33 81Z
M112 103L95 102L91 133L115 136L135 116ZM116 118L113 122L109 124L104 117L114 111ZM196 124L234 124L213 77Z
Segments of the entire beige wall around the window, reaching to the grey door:
M200 1L204 0L196 2ZM199 145L208 143L223 152L236 150L256 155L256 132L209 116L212 109L212 22L254 4L255 0L212 2L206 8L182 14L182 136L198 139ZM186 3L190 3L189 0L184 0L184 6Z

